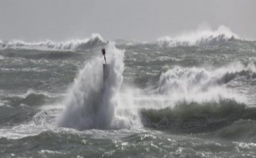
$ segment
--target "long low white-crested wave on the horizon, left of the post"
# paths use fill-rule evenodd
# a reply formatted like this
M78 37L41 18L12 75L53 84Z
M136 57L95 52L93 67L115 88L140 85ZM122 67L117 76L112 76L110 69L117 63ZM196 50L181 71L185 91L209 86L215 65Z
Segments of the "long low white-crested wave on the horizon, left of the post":
M90 38L83 40L70 40L67 42L25 42L21 40L10 40L4 48L23 48L23 49L55 49L55 50L77 50L90 49L97 46L105 45L106 42L99 34L92 34Z

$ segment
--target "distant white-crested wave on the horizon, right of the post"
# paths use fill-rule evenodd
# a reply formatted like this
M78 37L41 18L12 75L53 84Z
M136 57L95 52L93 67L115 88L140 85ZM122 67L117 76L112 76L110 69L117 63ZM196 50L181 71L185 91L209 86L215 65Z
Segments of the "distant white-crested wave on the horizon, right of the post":
M157 45L164 48L192 45L214 46L233 39L239 39L239 36L233 33L229 28L221 25L215 31L209 28L198 29L197 31L185 33L175 38L163 37L157 40Z

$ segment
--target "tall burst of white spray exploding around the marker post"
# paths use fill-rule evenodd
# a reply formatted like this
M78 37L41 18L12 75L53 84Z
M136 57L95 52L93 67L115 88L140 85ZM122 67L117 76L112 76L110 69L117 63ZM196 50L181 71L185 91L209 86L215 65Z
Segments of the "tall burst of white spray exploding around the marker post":
M128 108L132 104L125 102L131 98L125 98L127 95L119 93L123 80L124 50L117 49L112 42L105 49L111 75L104 88L103 58L96 56L84 65L75 79L67 99L63 102L66 108L57 120L58 126L79 130L141 126L136 108Z

